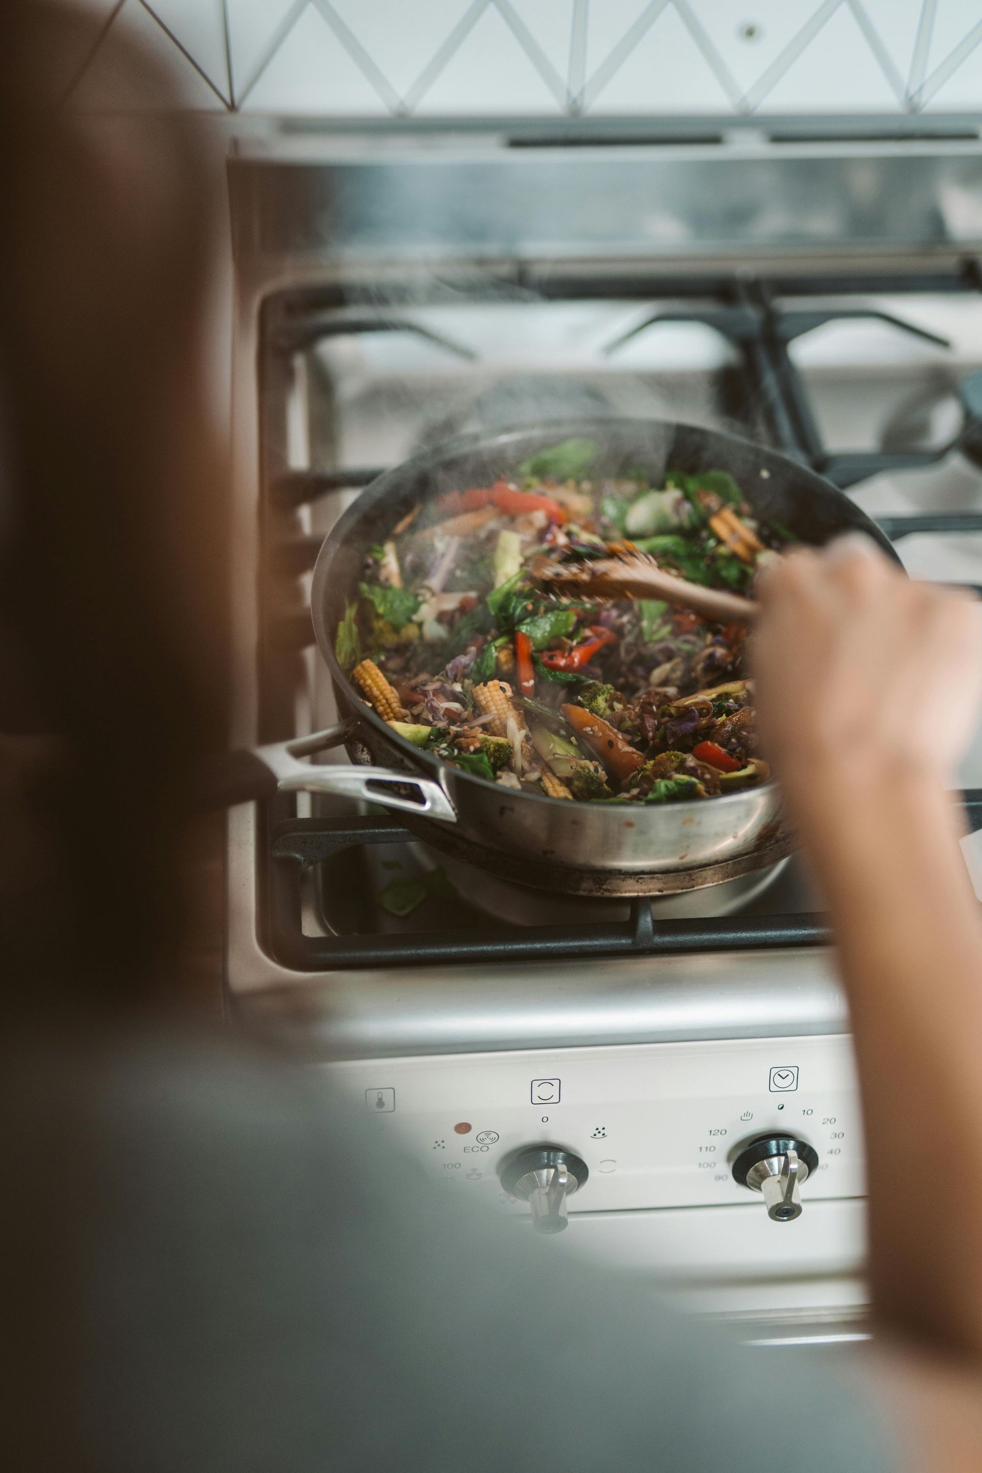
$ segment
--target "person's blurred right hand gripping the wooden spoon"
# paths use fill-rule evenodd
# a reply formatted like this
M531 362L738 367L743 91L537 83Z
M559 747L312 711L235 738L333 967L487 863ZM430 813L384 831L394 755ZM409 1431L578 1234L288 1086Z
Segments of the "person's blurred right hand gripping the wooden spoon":
M973 598L907 579L863 535L782 557L758 598L761 750L792 804L908 775L954 782L982 701Z

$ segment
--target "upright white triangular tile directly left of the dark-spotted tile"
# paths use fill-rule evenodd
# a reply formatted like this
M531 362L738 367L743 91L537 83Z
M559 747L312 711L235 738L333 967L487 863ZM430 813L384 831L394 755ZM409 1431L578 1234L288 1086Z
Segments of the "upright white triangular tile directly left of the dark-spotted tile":
M610 82L590 113L730 112L732 99L674 9L663 10Z

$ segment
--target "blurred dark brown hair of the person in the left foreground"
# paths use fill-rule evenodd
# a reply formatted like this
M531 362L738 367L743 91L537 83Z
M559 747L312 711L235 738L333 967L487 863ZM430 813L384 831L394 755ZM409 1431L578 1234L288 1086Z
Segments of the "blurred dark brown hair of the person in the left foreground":
M186 118L38 106L78 22L0 10L0 955L22 994L125 997L180 931L188 772L225 738L216 202Z

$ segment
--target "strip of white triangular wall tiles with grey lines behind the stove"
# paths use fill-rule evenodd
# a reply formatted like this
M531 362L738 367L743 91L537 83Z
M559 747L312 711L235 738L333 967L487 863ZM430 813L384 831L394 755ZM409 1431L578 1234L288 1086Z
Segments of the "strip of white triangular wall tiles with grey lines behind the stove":
M69 105L140 106L113 37L187 106L318 116L982 113L979 0L78 0Z

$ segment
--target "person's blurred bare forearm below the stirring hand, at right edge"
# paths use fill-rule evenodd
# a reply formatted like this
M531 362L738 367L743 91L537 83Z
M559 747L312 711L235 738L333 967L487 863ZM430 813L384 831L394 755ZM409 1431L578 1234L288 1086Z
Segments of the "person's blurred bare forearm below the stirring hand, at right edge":
M863 1081L875 1304L982 1364L982 922L957 810L920 779L817 787L799 816Z

